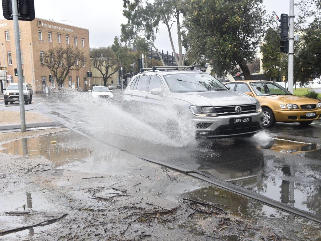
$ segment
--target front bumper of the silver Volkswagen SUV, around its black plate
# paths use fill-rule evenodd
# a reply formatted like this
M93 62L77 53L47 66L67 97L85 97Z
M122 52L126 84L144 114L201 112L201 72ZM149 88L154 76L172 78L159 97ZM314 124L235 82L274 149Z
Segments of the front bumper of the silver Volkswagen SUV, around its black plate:
M192 114L193 115L193 114ZM193 115L197 138L229 138L255 134L263 129L263 112L228 116ZM230 119L251 117L251 122L230 124Z

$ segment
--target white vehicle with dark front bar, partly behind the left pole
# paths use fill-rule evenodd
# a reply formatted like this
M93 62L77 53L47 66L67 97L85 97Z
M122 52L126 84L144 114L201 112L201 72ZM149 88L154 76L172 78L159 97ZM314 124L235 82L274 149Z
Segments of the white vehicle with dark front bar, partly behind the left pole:
M13 83L8 85L6 89L4 89L4 104L7 105L8 102L19 102L19 86L17 83ZM32 95L30 94L30 90L26 84L23 84L23 97L25 104L31 104Z

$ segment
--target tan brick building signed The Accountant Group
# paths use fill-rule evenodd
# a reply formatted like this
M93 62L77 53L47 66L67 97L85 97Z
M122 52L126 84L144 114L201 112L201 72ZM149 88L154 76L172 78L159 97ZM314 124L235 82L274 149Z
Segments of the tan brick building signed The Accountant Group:
M84 90L90 88L86 79L86 72L90 70L88 29L40 18L35 18L33 21L19 21L19 29L23 63L22 71L25 83L30 83L34 86L36 92L42 92L45 87L58 87L53 73L40 63L40 56L43 52L57 46L73 46L84 51L86 63L79 70L70 71L65 79L64 88L74 87ZM18 77L14 76L14 69L17 66L13 21L0 20L0 44L2 44L0 46L0 68L1 70L6 69L6 80L0 74L0 93L2 93L3 88L9 83L18 83ZM32 57L30 55L30 46ZM32 70L34 81L32 80ZM49 82L49 74L52 74L51 82ZM8 83L6 83L7 81Z

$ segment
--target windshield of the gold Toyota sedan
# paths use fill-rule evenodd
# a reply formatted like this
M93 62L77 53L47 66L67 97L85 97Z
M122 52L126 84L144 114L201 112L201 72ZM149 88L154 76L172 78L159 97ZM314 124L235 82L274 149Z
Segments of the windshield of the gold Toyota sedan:
M274 82L252 82L250 83L255 94L258 96L263 95L281 95L291 94L289 91L284 89L281 85Z

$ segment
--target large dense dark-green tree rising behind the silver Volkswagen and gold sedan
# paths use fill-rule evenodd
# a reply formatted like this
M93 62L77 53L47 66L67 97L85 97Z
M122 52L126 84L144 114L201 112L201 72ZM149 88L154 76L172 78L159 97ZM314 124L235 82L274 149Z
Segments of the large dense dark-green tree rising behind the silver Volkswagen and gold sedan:
M237 65L246 79L264 34L263 0L183 0L190 46L217 72Z

